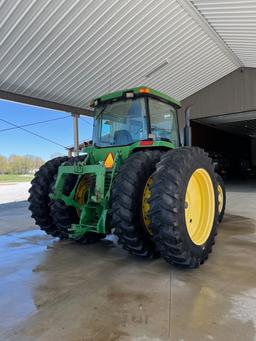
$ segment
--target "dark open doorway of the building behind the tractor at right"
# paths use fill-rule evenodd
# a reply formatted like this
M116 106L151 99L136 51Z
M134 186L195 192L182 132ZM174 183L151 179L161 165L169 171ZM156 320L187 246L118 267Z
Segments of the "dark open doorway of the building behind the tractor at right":
M192 144L209 152L223 177L256 177L256 112L191 121Z

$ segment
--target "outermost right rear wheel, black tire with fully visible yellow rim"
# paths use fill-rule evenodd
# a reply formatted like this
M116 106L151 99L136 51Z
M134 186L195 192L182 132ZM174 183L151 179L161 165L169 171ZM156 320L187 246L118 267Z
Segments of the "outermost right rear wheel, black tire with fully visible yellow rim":
M163 258L196 268L208 258L218 225L214 167L199 148L165 153L152 175L149 216Z

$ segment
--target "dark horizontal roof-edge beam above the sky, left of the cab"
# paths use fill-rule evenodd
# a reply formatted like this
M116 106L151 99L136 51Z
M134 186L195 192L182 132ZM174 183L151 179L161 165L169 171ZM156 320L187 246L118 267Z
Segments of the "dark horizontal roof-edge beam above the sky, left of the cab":
M90 116L90 117L94 116L94 111L89 110L89 109L84 109L84 108L74 107L72 105L66 105L66 104L46 101L44 99L19 95L19 94L15 94L13 92L4 91L4 90L0 90L0 99L5 99L8 101L12 101L12 102L20 102L20 103L25 103L29 105L34 105L37 107L44 107L44 108L49 108L53 110L65 111L69 113L85 115L85 116Z

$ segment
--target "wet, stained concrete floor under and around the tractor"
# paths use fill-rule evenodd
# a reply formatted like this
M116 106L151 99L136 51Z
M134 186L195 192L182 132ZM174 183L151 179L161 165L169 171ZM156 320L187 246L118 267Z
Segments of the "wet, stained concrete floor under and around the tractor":
M0 340L256 340L255 202L255 184L229 186L213 254L191 271L60 242L25 201L0 205Z

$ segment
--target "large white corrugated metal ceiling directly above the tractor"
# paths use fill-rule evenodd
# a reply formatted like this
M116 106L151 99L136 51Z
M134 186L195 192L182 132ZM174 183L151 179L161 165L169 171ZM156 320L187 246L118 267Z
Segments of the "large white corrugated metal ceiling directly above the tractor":
M182 100L239 66L184 2L2 0L0 90L85 108L146 84Z

